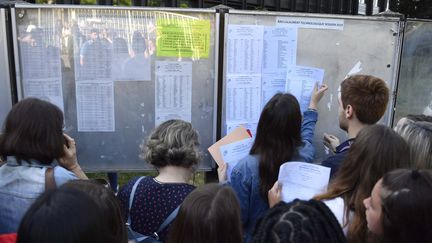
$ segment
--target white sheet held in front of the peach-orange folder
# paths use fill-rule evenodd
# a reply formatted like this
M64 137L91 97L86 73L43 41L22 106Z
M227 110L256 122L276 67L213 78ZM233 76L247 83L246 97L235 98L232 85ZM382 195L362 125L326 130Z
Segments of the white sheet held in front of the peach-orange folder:
M246 138L238 142L222 145L219 148L223 161L228 164L228 181L231 181L231 172L234 166L249 154L253 141L253 138Z

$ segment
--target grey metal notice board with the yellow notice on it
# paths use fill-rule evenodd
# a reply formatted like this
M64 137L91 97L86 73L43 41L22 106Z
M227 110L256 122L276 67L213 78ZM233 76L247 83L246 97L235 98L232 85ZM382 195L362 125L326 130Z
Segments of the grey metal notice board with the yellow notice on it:
M11 16L18 97L63 109L84 170L153 170L140 144L168 119L191 120L198 170L214 167L216 10L17 4Z

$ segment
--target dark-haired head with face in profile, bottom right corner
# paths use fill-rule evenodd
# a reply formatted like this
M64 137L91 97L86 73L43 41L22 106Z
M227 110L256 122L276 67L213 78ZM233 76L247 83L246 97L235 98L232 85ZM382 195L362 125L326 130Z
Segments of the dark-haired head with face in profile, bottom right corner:
M399 169L379 180L364 200L368 229L382 242L430 242L432 173Z

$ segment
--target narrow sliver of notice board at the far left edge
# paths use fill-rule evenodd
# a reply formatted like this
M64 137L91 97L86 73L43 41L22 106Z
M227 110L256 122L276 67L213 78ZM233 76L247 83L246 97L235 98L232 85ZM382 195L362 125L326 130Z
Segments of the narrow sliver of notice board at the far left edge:
M0 8L0 126L12 107L9 52L7 45L6 11Z

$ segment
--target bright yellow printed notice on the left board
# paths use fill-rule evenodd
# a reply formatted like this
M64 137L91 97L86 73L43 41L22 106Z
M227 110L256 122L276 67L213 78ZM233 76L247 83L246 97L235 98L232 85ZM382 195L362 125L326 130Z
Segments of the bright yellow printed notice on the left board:
M158 57L208 58L210 20L158 19L156 33Z

